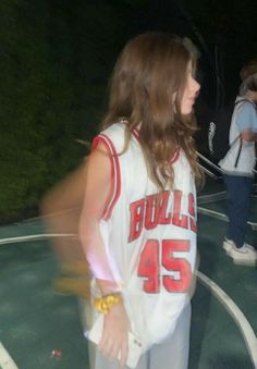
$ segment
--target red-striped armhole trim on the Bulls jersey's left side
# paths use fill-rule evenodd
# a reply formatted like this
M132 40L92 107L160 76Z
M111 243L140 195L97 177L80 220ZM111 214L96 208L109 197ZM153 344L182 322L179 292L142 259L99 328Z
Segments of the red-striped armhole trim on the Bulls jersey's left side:
M121 194L121 171L119 156L112 140L107 135L100 134L96 138L94 138L91 149L96 149L99 144L102 144L105 146L111 164L111 187L108 195L106 208L101 217L101 219L107 221L110 219L112 210Z

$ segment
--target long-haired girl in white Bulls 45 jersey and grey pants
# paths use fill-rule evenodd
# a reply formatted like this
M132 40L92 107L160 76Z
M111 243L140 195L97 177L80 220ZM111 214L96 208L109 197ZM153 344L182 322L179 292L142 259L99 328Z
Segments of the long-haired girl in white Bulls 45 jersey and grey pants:
M125 46L87 160L79 237L103 316L95 369L126 364L128 331L143 345L136 368L187 368L200 179L187 44L146 33Z

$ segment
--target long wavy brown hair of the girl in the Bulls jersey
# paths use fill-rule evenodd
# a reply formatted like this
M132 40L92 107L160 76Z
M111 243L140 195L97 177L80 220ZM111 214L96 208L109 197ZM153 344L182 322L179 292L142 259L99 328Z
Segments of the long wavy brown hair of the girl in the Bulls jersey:
M184 150L196 179L201 176L192 138L196 121L193 113L181 113L189 61L194 67L193 53L180 37L145 33L127 42L110 83L109 110L102 125L125 119L124 150L133 128L139 127L149 175L159 188L173 186L170 162L178 147Z

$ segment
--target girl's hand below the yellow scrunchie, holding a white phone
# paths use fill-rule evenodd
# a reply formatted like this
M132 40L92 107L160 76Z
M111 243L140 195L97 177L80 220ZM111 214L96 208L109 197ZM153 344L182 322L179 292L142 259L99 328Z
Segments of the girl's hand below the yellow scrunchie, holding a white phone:
M102 336L98 345L103 356L119 360L121 367L125 366L127 359L128 331L130 321L121 302L112 306L110 311L105 315Z

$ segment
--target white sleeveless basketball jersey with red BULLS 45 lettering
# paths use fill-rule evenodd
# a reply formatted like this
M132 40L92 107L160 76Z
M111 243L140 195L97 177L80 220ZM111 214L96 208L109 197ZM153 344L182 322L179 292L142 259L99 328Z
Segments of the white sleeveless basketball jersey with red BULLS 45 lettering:
M122 293L132 331L146 347L163 340L188 303L196 260L194 175L182 150L173 158L173 190L160 193L146 169L134 132L124 148L124 124L94 140L110 153L111 195L100 222L107 255Z

